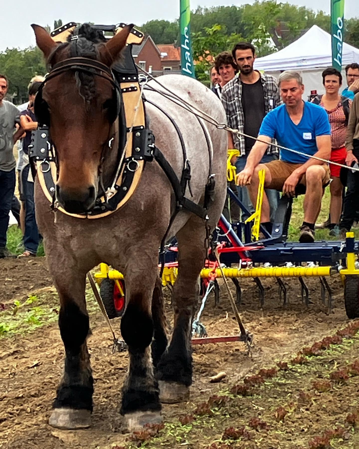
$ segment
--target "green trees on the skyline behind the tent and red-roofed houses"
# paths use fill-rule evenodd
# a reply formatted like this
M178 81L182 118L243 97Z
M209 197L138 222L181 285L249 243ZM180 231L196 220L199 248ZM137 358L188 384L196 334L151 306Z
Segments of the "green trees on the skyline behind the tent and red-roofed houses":
M304 6L276 0L256 0L254 4L241 6L199 6L192 12L191 31L194 35L199 33L205 37L206 29L212 28L213 24L220 25L224 35L241 35L242 39L253 42L258 56L265 56L272 51L270 38L281 49L298 39L312 25L318 25L329 32L330 16L323 11L315 12ZM142 30L149 33L156 44L178 40L178 21L151 20L142 26ZM345 40L348 44L359 47L358 18L346 21Z

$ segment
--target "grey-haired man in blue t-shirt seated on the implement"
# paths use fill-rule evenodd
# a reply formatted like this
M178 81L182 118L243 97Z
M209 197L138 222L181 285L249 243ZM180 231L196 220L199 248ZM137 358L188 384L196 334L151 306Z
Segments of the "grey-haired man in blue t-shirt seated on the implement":
M282 190L283 194L295 195L298 184L306 186L304 198L304 221L301 226L300 242L314 242L314 225L318 218L323 187L330 180L328 164L308 156L328 160L330 158L330 124L328 114L313 103L304 102L302 77L294 71L285 71L279 76L280 96L283 105L269 112L263 119L258 139L244 170L237 176L237 185L247 185L253 204L258 192L258 172L266 170L266 189ZM276 139L278 145L296 150L280 150L280 160L260 164L263 154ZM306 156L305 154L308 154ZM262 224L271 232L269 204L263 195Z

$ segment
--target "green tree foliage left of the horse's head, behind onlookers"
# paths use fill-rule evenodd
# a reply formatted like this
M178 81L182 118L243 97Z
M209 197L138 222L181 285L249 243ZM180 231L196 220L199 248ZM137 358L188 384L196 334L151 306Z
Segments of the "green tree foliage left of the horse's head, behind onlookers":
M21 104L27 101L27 86L35 75L44 75L46 67L44 56L39 48L29 47L25 50L7 48L0 52L1 72L9 78L8 97Z

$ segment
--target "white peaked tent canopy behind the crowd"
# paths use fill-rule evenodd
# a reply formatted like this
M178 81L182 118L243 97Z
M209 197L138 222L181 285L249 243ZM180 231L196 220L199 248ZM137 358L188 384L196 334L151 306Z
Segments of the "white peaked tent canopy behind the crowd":
M343 44L342 66L359 63L359 50ZM302 37L279 52L255 60L257 70L306 70L332 66L332 37L319 26L313 25Z

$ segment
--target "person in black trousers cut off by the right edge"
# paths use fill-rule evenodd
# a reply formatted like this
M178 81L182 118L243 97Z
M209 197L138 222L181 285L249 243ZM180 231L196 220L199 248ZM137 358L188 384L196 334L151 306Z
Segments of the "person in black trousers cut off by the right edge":
M359 93L354 97L350 108L349 122L346 132L346 165L352 167L359 160ZM358 165L356 165L358 167ZM344 211L340 222L340 236L345 238L350 231L359 211L359 172L348 170L346 180L346 195L344 198Z

